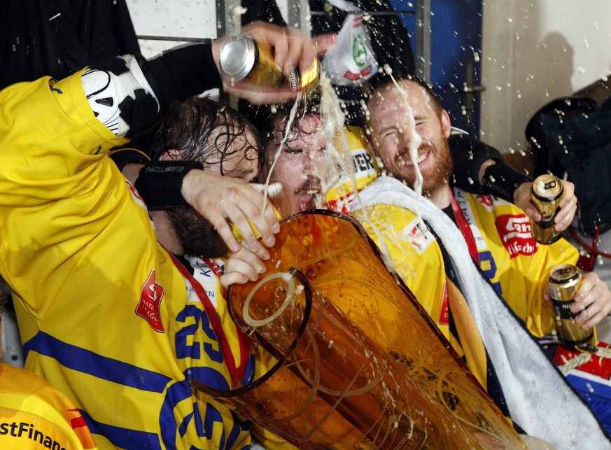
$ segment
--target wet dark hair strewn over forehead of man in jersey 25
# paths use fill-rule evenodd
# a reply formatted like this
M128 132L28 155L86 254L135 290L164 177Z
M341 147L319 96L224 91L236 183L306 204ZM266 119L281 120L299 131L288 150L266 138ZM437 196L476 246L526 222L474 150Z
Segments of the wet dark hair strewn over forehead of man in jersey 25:
M167 150L181 152L181 160L195 160L204 164L204 169L242 153L242 157L253 160L241 143L232 148L236 139L246 140L253 146L260 163L262 146L253 124L229 106L206 97L191 97L176 103L162 116L148 136L148 153L158 160Z

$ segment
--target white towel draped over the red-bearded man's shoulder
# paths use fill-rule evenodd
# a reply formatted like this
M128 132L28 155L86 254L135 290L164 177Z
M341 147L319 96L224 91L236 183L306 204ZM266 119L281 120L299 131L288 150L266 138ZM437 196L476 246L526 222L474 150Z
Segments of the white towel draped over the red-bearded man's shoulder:
M558 449L611 449L584 400L479 272L458 227L428 199L420 197L417 202L420 216L437 234L454 264L465 300L503 386L512 420L529 435ZM360 192L351 209L374 204L402 206L415 212L416 193L395 178L381 176Z

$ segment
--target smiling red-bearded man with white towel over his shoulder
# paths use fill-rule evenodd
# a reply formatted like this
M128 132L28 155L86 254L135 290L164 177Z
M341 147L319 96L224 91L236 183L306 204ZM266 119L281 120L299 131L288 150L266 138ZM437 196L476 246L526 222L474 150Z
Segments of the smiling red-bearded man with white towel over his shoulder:
M388 83L367 106L372 145L388 176L360 193L353 215L517 426L559 448L608 446L592 412L531 338L554 330L549 269L575 264L577 250L563 239L538 245L524 230L524 211L451 185L451 123L426 83ZM575 321L591 328L610 310L608 286L586 274L571 307L580 313ZM564 401L582 413L567 419ZM559 425L561 416L567 420ZM581 421L592 428L583 433Z

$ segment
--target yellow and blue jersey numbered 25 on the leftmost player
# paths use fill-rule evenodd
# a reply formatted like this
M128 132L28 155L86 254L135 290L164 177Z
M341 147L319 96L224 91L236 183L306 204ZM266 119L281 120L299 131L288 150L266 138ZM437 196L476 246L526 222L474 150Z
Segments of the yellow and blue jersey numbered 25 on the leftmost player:
M0 92L0 273L25 367L68 396L100 449L244 448L251 424L195 400L190 381L246 383L252 353L211 295L219 336L157 244L148 211L108 157L124 143L94 117L80 73Z

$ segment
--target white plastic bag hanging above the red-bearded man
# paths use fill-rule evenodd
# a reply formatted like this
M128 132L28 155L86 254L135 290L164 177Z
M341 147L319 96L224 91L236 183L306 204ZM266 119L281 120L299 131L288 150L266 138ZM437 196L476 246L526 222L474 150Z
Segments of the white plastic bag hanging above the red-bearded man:
M371 49L369 29L363 25L361 10L345 0L328 0L335 8L354 11L346 15L335 45L323 57L323 71L334 85L360 84L378 70Z

